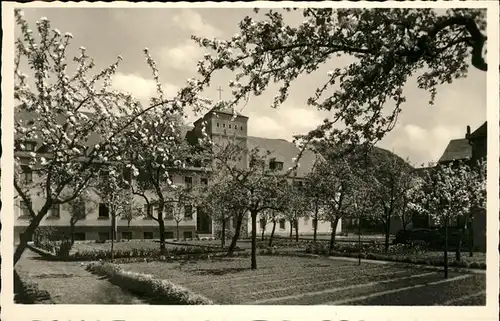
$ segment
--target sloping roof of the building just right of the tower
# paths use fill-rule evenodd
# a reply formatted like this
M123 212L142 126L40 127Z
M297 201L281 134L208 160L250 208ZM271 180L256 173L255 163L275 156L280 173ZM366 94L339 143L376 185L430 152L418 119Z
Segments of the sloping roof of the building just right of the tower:
M300 152L297 146L284 139L248 136L247 142L249 150L257 148L261 151L261 155L264 155L266 151L269 151L270 155L268 159L277 157L277 160L282 161L283 172L286 172L293 166L293 159L296 158ZM305 177L307 174L312 172L317 157L321 156L309 149L305 150L302 157L299 159L297 177Z

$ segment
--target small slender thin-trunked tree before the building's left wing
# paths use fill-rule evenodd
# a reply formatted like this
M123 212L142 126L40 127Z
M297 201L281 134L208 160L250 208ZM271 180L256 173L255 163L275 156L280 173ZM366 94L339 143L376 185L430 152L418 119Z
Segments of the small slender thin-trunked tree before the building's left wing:
M117 236L116 219L132 211L130 185L124 180L120 167L110 165L101 169L94 189L101 202L106 204L111 218L111 259L113 260Z

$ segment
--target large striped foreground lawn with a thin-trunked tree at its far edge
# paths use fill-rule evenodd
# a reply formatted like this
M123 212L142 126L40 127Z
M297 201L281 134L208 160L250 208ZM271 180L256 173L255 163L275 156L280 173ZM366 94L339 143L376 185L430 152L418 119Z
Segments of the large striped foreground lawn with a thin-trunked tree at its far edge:
M402 268L336 259L259 256L184 263L121 264L124 270L168 279L216 304L434 305L485 304L484 274ZM457 303L458 302L458 303Z

